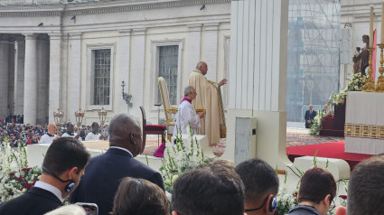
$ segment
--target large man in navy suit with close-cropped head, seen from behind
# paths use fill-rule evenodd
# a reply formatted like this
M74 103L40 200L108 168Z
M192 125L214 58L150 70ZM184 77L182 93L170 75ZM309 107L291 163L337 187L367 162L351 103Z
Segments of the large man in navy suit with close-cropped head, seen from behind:
M112 211L118 184L124 177L143 178L164 190L160 173L134 158L143 152L145 144L141 128L133 118L120 114L111 120L109 145L105 154L90 160L79 188L70 196L70 202L96 203L99 214L107 215Z

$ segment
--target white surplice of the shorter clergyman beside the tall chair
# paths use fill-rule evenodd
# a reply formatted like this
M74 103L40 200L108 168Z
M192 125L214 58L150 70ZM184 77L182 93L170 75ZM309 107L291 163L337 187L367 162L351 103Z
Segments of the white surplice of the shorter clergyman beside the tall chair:
M194 135L199 135L200 129L200 117L196 114L196 110L192 104L184 100L179 106L177 111L176 123L173 129L173 136L177 136L179 130L182 130L182 134L189 134L188 122L191 124L191 129Z

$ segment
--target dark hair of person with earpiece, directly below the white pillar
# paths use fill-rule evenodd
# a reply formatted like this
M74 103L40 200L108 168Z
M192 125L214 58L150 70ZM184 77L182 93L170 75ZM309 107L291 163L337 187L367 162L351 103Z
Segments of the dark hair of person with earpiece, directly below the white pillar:
M245 198L247 201L262 201L266 194L276 196L278 192L278 177L275 170L260 159L250 159L235 167L245 186Z

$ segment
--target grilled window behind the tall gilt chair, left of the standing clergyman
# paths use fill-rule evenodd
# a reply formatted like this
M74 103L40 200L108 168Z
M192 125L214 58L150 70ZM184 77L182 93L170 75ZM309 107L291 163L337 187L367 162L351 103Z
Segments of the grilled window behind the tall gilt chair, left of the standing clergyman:
M159 47L159 77L166 81L171 105L177 105L177 66L179 57L178 45ZM157 102L162 103L160 89L157 93Z

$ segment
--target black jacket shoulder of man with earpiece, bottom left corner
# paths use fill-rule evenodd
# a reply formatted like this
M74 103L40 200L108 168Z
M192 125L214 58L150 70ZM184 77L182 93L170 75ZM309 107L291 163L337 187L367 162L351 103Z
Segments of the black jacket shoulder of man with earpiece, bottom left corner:
M38 187L31 188L23 195L0 205L1 215L42 215L62 206L52 193Z

